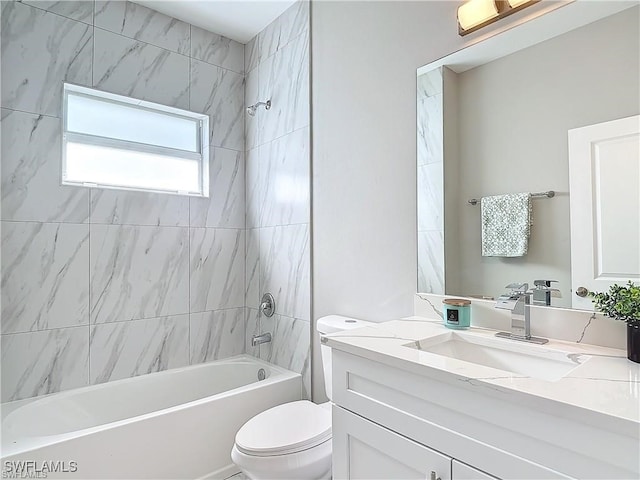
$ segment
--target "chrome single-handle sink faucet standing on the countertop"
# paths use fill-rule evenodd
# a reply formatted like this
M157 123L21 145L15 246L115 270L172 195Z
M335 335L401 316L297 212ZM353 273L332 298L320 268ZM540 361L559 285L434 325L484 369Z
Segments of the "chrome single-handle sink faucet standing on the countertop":
M542 345L549 340L531 336L531 304L528 283L511 283L511 292L498 297L496 308L511 311L511 332L498 332L496 337Z

